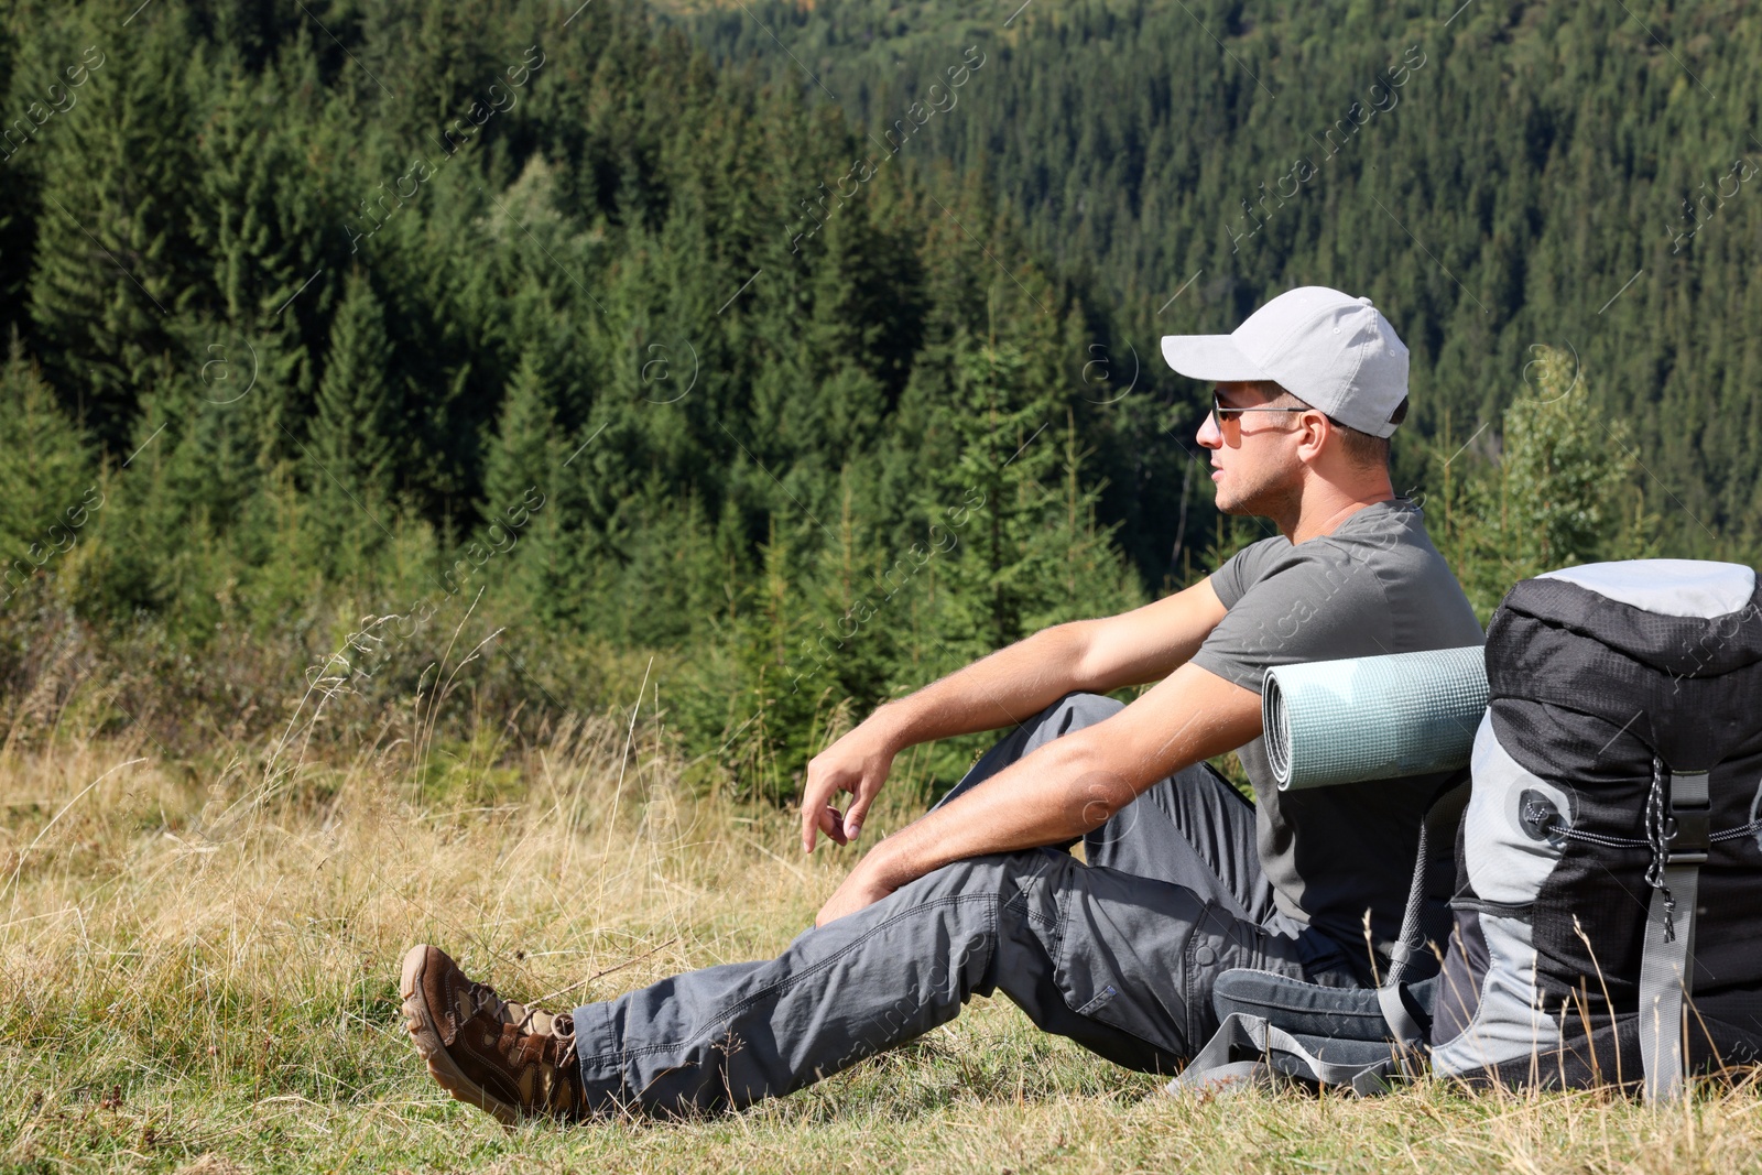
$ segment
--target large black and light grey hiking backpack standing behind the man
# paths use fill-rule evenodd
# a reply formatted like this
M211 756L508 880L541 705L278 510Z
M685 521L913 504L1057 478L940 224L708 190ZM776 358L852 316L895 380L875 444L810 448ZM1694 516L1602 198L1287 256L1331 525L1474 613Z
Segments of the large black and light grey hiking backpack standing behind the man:
M1487 625L1485 669L1470 782L1425 819L1381 987L1228 971L1221 1029L1172 1090L1369 1094L1429 1062L1471 1085L1660 1101L1686 1073L1762 1062L1755 571L1635 560L1524 580Z

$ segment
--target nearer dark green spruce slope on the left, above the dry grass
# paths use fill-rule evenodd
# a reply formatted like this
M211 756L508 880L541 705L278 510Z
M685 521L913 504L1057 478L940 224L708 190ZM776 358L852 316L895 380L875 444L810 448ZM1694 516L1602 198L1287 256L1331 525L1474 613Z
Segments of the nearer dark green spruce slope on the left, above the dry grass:
M1092 308L899 167L802 248L842 115L640 9L12 4L0 53L25 728L641 691L781 787L853 705L1144 595L1094 453L1156 409L1078 379Z

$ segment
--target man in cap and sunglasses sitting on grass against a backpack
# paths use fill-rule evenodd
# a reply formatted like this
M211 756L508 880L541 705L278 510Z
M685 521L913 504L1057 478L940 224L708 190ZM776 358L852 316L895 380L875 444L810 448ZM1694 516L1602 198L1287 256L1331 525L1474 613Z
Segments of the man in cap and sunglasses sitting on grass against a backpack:
M1269 666L1478 645L1388 440L1408 352L1369 298L1293 289L1233 335L1168 336L1214 381L1198 442L1218 507L1279 534L1121 617L1064 624L892 701L807 770L802 842L856 839L906 747L1015 726L874 846L812 930L552 1016L435 948L403 960L430 1073L502 1120L744 1106L951 1020L1001 988L1040 1027L1172 1073L1216 1029L1212 985L1262 967L1362 985L1387 967L1441 777L1279 793ZM1131 705L1103 694L1151 684ZM1239 749L1244 802L1207 763ZM849 810L832 807L851 793ZM1084 842L1084 861L1068 849Z

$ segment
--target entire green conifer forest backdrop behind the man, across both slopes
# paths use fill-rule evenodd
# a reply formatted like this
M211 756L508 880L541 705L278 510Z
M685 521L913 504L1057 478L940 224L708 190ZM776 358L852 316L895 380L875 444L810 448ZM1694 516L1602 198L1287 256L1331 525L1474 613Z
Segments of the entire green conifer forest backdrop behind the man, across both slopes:
M782 796L1269 532L1156 335L1295 282L1404 331L1397 488L1484 611L1753 550L1762 213L1679 215L1762 159L1737 9L749 9L5 4L7 736L460 696L495 757L641 699Z

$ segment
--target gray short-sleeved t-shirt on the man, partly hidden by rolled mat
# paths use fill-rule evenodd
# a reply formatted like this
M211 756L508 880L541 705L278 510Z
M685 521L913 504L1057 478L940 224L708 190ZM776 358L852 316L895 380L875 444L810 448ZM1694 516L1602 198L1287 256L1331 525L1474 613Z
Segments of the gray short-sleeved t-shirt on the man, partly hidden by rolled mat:
M1228 613L1193 664L1256 694L1270 666L1485 639L1408 499L1366 506L1304 543L1262 539L1210 583ZM1237 756L1255 786L1260 867L1277 907L1343 942L1359 964L1369 909L1378 955L1387 955L1401 932L1420 819L1448 773L1281 793L1263 740Z

